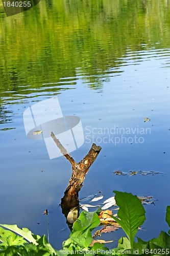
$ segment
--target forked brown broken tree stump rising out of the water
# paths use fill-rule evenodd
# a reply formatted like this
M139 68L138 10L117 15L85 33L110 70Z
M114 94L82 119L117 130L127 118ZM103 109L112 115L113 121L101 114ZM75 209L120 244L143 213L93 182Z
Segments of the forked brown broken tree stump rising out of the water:
M79 191L83 186L85 176L88 173L90 166L99 155L102 148L100 146L96 146L95 143L93 143L89 153L84 157L84 159L81 160L79 163L76 163L75 160L70 156L70 154L60 143L60 141L56 138L53 132L51 133L51 137L55 141L63 156L72 165L72 175L69 180L69 184L64 192L64 197L61 199L62 212L65 217L67 217L70 209L79 206Z

